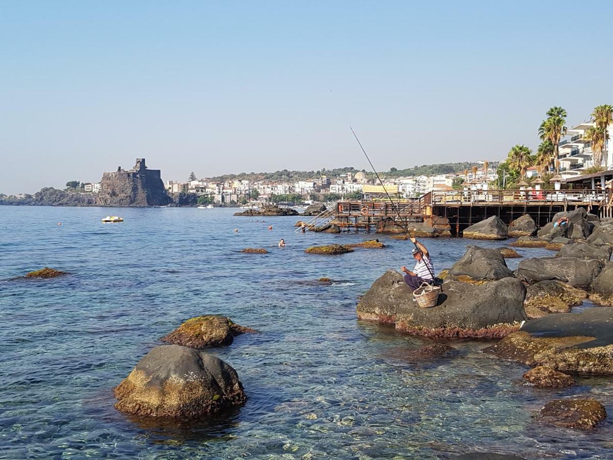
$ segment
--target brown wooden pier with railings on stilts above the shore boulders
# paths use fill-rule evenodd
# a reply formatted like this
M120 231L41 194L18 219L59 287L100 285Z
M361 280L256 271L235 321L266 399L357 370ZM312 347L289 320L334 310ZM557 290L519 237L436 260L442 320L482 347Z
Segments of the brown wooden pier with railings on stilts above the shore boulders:
M433 191L419 198L338 201L329 212L346 230L371 231L383 220L403 224L423 222L437 216L449 220L456 234L493 215L509 224L520 215L529 214L538 226L551 221L555 213L583 207L599 217L613 217L611 190L449 190Z

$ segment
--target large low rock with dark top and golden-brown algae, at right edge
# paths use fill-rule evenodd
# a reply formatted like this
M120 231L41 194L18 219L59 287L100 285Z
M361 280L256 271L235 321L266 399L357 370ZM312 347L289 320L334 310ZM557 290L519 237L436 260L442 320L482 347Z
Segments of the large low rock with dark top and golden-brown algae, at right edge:
M594 307L530 320L487 351L528 366L613 375L613 308Z

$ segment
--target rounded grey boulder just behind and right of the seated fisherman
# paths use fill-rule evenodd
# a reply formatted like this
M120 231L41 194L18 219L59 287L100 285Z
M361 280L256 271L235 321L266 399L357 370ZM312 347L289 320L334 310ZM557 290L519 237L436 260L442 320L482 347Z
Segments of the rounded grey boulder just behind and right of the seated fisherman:
M470 245L466 253L449 269L449 275L470 277L472 280L500 280L512 277L500 251Z

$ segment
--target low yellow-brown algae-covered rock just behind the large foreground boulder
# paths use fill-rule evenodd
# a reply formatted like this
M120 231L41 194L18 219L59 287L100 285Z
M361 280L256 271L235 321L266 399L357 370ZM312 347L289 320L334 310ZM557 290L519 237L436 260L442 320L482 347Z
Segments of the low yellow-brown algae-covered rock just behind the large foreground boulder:
M226 316L204 315L190 318L161 340L183 347L204 348L214 345L230 345L235 335L245 332L256 331L235 324Z

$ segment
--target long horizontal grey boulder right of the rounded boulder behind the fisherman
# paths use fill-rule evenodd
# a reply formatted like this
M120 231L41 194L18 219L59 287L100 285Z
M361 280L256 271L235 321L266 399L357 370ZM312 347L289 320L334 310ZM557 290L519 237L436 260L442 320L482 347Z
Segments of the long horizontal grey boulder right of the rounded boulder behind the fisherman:
M517 272L530 284L545 280L560 280L574 288L587 289L600 274L603 263L574 257L524 259Z

